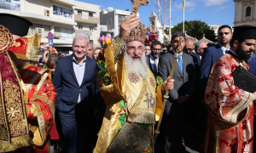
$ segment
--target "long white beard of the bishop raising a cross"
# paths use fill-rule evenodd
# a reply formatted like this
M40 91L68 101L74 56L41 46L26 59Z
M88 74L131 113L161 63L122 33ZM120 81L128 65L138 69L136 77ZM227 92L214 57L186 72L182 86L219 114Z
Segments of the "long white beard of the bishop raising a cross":
M134 54L129 56L129 54L125 51L125 69L126 69L126 75L129 76L131 72L137 73L137 75L143 77L143 79L146 79L148 77L148 68L147 68L147 62L145 53L143 52L143 56L137 55L140 57L138 62L135 62L133 57L135 57Z

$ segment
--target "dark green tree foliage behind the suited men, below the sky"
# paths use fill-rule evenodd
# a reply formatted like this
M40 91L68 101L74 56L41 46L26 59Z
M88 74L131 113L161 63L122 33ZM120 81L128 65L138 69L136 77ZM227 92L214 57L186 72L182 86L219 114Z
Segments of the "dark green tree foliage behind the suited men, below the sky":
M214 31L210 29L210 26L201 20L185 20L184 28L187 35L190 37L196 37L196 39L200 40L203 37L203 34L205 34L207 39L211 40L212 42L216 42ZM172 28L172 33L176 31L183 31L183 22L178 23L177 26Z

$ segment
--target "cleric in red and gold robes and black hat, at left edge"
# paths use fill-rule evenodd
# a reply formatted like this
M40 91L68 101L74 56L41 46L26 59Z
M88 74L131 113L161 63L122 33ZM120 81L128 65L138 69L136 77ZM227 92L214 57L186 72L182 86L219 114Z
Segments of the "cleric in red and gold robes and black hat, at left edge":
M47 153L56 93L50 72L34 65L41 37L24 36L30 21L0 14L0 24L3 18L9 30L0 25L0 152Z

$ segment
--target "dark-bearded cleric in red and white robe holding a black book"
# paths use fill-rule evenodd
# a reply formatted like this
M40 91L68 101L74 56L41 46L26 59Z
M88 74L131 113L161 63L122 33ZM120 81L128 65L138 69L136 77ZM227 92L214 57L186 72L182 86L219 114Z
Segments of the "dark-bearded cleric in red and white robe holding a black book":
M234 85L232 72L238 66L249 71L247 59L254 50L255 26L236 26L228 54L217 59L207 82L208 110L204 153L253 152L253 101L249 93Z

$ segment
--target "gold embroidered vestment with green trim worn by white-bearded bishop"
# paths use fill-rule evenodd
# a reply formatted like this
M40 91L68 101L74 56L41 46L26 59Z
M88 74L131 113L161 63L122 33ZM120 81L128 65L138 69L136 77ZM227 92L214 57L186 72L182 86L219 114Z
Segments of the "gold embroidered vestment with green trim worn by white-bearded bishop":
M155 78L149 68L145 79L132 72L126 75L125 52L119 54L123 47L124 44L116 39L96 59L96 75L107 109L95 153L107 152L108 145L127 119L152 134L153 124L159 120L162 109L162 80ZM149 143L144 152L150 151Z

